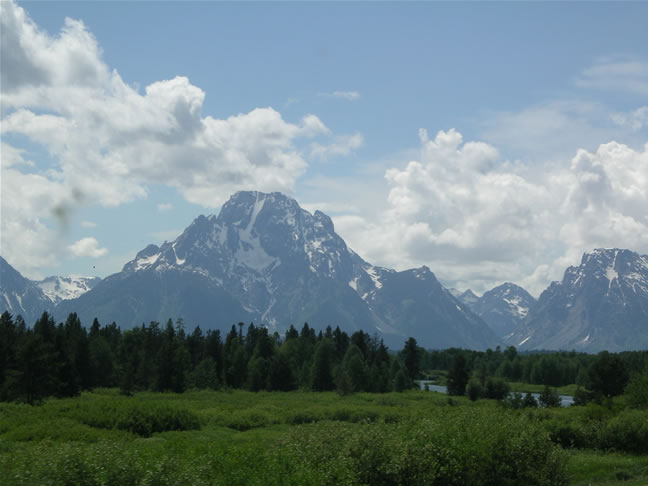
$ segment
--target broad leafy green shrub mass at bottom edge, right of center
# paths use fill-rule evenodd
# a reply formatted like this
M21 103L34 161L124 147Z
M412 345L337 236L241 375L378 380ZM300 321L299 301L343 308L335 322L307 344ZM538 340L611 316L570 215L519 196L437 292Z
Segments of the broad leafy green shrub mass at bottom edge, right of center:
M492 409L446 410L397 424L304 425L278 450L311 470L314 484L565 484L566 456L536 421L504 411L493 418Z

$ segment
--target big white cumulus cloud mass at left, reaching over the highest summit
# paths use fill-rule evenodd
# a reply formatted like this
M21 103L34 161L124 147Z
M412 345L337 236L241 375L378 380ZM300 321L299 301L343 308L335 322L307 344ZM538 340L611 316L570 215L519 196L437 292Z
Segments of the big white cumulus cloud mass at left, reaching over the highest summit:
M152 184L210 208L242 189L292 192L313 138L333 136L313 114L289 122L271 107L206 116L205 92L186 77L143 91L127 84L83 22L66 19L51 36L13 1L0 9L1 133L41 145L51 159L39 170L3 142L2 252L21 270L64 252L48 242L57 238L46 224L52 211L118 206Z

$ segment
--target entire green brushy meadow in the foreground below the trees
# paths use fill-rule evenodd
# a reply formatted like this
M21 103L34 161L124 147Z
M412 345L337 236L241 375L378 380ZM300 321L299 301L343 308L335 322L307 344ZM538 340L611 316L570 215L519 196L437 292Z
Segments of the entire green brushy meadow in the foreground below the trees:
M646 485L648 456L600 451L622 444L613 433L641 431L637 420L648 424L614 410L513 411L424 391L96 390L0 404L0 484ZM581 436L584 448L572 447Z

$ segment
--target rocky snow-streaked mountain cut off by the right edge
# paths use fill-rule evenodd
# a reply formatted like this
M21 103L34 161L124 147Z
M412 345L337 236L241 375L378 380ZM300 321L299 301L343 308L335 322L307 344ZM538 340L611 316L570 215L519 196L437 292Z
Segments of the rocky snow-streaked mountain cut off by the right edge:
M648 255L597 249L553 282L506 342L598 352L648 347Z

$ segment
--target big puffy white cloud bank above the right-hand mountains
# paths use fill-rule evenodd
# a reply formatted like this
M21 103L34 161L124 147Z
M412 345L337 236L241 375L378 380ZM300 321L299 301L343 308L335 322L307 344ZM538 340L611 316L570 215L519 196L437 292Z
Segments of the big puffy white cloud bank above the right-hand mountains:
M390 206L377 220L335 218L370 261L426 264L478 291L514 280L537 294L592 248L648 253L648 145L610 142L527 166L456 130L420 139L419 160L387 170Z

